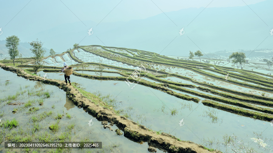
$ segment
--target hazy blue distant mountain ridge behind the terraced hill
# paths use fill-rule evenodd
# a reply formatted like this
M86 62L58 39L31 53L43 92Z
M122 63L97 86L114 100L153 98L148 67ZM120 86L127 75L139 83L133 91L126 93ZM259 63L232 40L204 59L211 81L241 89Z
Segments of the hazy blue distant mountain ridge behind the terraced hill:
M273 36L269 34L273 28L272 6L273 1L267 0L239 7L187 8L126 22L68 21L46 29L27 26L17 30L17 25L10 24L5 34L15 33L28 42L38 38L45 42L44 47L59 53L75 43L135 48L174 56L188 56L189 50L214 53L256 47L273 49ZM90 28L93 28L92 35L87 34ZM179 34L182 28L184 35ZM251 54L254 55L260 56Z

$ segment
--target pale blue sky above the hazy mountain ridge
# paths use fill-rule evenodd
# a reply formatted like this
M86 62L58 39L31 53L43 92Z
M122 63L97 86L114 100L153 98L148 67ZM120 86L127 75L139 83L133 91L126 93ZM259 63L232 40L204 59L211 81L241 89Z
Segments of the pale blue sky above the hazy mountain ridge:
M74 0L3 0L1 1L0 14L2 19L0 27L5 26L12 18L11 22L13 23L21 21L20 19L28 20L27 18L32 18L32 20L44 18L44 20L52 20L56 24L79 20L93 20L97 23L100 21L115 22L144 19L158 15L162 11L170 12L200 7L245 6L262 1L265 0L81 0L77 2ZM35 14L32 13L33 11ZM52 16L55 19L52 19Z

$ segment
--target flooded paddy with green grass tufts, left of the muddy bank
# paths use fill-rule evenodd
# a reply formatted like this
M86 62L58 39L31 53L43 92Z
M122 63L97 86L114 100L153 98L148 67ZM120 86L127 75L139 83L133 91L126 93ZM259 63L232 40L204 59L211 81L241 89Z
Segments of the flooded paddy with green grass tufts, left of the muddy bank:
M5 139L5 141L19 142L103 142L102 149L64 149L63 152L149 152L147 142L139 144L128 141L128 138L114 132L118 129L115 125L111 126L113 131L104 129L101 121L98 121L95 116L91 116L82 108L76 107L69 100L66 92L58 87L26 80L3 69L0 69L0 72L0 112L3 125L13 119L18 121L16 127L11 129L1 126L2 151L4 151L3 140ZM13 95L16 95L14 99L4 100ZM92 126L87 124L90 119L93 119ZM49 128L51 125L57 126L56 131ZM56 149L13 149L6 151L56 152Z

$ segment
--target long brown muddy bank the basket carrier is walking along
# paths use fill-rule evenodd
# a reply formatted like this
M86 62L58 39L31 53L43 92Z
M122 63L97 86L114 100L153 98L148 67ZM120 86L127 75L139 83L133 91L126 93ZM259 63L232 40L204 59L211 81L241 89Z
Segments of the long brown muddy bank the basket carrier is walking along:
M159 148L160 150L167 152L187 152L187 153L205 153L205 152L216 152L221 151L208 151L202 145L198 145L193 142L179 141L174 136L162 133L157 135L156 132L150 131L143 125L137 125L129 119L123 116L117 116L113 110L106 109L103 106L96 105L91 100L87 99L73 86L66 86L64 81L46 79L44 80L39 76L32 76L26 73L23 69L15 68L12 66L5 66L0 63L0 66L4 70L8 70L17 73L18 76L35 81L42 81L46 84L58 86L62 90L66 91L69 98L78 107L83 107L84 110L96 116L99 120L108 121L116 124L123 132L126 138L134 140L136 142L148 142L149 146Z

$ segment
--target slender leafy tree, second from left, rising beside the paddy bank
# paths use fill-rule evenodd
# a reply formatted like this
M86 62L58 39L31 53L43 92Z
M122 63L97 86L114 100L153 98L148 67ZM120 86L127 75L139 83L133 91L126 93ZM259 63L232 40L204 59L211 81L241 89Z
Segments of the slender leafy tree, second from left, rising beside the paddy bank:
M43 66L43 57L45 55L45 49L43 49L42 45L43 43L41 41L38 41L38 39L36 41L32 41L29 43L32 48L30 48L31 52L34 54L34 57L32 57L35 62L34 62L34 73L37 74L37 70L39 70L39 68L41 68Z

